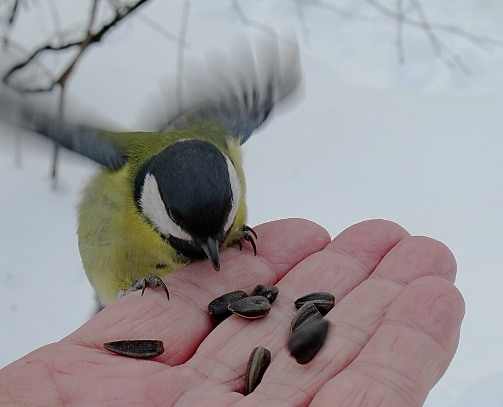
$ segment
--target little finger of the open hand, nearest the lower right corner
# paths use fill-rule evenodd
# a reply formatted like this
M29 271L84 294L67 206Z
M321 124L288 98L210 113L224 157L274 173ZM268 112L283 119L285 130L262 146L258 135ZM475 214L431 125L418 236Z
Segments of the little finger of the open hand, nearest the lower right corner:
M463 298L450 282L413 281L360 355L310 405L423 405L454 356L463 315Z

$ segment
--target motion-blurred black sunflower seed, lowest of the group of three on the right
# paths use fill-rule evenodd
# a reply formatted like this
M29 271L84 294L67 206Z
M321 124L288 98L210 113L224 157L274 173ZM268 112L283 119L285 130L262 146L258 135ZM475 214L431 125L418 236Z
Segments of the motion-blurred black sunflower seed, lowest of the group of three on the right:
M303 365L313 359L325 343L328 321L310 321L295 330L288 341L288 350L297 363Z

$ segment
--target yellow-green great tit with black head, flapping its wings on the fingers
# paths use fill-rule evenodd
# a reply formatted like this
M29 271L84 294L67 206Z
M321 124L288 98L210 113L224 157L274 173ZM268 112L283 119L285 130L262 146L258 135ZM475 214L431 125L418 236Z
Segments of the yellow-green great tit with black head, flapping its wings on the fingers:
M78 205L77 236L103 305L148 286L169 298L160 277L206 257L219 270L219 250L241 239L256 252L240 146L301 73L296 43L244 49L192 75L185 100L166 95L154 132L76 125L0 91L0 118L101 164Z

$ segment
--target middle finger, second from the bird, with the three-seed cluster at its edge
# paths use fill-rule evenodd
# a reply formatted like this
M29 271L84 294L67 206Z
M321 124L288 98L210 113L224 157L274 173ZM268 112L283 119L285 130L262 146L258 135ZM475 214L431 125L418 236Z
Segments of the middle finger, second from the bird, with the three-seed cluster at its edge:
M239 317L227 319L210 334L188 365L199 370L201 377L217 377L228 383L227 389L242 390L242 376L252 348L267 344L277 353L284 347L295 298L339 286L342 296L365 280L385 254L407 236L401 226L382 220L349 227L278 282L280 294L266 318L251 322ZM231 382L234 385L229 385Z

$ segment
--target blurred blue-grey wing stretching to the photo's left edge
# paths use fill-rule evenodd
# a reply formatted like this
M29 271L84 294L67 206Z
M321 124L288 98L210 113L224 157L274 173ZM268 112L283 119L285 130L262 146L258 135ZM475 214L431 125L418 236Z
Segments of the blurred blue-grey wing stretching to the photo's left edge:
M65 122L58 118L58 114L51 113L46 105L55 103L36 103L33 98L0 89L0 119L42 134L108 168L119 168L127 162L127 157L121 154L113 142L113 135L117 138L120 133Z

